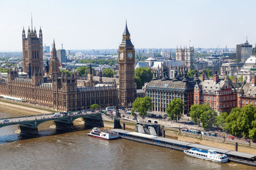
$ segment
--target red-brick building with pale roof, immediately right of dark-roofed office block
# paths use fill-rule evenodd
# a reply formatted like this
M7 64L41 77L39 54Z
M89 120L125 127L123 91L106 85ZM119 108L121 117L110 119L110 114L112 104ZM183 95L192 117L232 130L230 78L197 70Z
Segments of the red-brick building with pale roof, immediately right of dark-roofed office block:
M209 103L215 111L229 112L237 107L237 86L228 77L225 80L219 80L218 74L214 74L213 79L205 77L203 74L201 82L195 85L194 104Z

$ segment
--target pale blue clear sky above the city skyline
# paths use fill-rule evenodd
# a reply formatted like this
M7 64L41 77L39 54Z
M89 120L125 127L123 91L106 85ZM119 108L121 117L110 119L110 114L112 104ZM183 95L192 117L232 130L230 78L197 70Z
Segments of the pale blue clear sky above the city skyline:
M0 0L0 51L22 50L22 27L65 49L118 48L125 18L135 48L235 48L256 43L256 1Z

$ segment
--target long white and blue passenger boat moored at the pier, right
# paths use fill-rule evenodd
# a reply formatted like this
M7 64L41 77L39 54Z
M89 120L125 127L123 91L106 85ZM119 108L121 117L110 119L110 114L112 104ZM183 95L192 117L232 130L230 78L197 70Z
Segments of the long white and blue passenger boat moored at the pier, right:
M225 154L216 153L214 150L200 150L198 148L191 148L184 150L184 153L191 157L196 157L205 160L212 160L214 162L225 163L228 162L228 157Z

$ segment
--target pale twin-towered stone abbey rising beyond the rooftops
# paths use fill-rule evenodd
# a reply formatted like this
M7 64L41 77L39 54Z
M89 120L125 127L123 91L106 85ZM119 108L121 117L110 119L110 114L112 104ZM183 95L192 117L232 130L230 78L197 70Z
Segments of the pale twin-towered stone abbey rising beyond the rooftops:
M189 48L178 48L176 49L176 60L184 61L184 65L188 67L189 70L194 69L195 62L195 49L194 47Z

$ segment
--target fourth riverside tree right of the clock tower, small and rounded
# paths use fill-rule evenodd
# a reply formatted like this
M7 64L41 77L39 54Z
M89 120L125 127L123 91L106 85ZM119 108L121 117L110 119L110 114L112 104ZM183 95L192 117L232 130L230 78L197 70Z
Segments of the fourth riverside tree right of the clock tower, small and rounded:
M217 115L217 112L214 110L204 111L199 118L200 122L202 122L202 127L204 129L211 129L212 125L216 122Z

